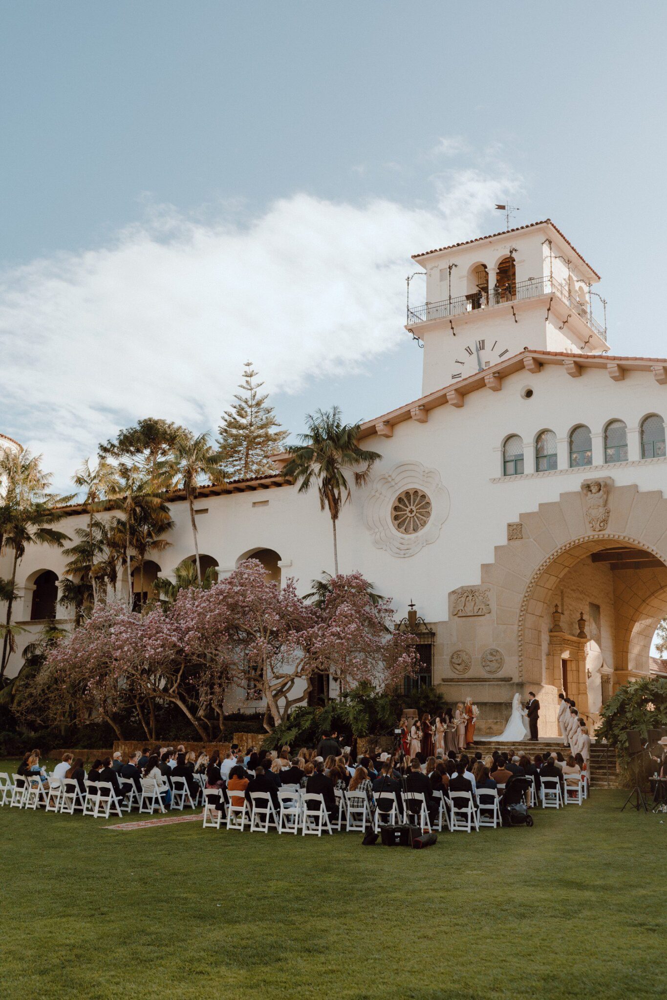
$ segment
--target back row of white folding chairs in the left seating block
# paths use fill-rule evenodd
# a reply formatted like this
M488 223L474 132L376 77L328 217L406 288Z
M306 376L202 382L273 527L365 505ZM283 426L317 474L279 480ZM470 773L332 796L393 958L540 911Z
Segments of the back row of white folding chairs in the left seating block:
M186 806L195 809L203 795L203 788L192 796L185 778L172 778L171 808L182 811ZM46 812L73 814L80 811L84 816L104 817L113 813L122 816L123 810L131 812L137 807L140 813L150 813L157 810L166 812L163 794L166 787L158 788L155 782L141 779L141 792L134 782L123 781L122 787L127 789L122 799L117 798L112 785L104 781L84 782L85 791L72 778L51 778L48 785L37 775L34 777L16 775L12 782L7 773L0 773L0 805L9 801L10 807L19 809L38 809L43 807ZM200 784L200 782L198 782Z

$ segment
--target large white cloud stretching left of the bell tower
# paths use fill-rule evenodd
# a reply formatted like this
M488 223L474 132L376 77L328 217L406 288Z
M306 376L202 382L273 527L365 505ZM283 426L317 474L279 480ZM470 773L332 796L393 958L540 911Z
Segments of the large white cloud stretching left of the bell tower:
M507 172L432 178L429 207L305 194L239 222L149 211L109 246L0 275L0 430L64 487L138 417L217 427L251 358L267 387L364 368L396 347L410 253L467 238Z

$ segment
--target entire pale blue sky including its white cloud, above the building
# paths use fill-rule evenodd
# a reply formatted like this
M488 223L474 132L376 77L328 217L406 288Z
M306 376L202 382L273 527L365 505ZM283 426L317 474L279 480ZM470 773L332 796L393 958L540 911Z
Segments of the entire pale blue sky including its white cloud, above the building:
M0 430L64 487L149 412L416 397L410 254L550 216L663 333L656 3L0 3ZM443 141L444 140L444 141ZM426 240L426 243L423 241Z

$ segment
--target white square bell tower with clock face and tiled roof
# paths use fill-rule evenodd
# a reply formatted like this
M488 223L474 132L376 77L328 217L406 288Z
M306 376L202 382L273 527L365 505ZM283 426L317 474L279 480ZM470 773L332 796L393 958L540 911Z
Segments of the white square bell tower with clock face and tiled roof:
M413 260L426 272L426 302L408 307L405 328L424 345L423 395L524 348L609 350L591 308L600 276L550 219Z

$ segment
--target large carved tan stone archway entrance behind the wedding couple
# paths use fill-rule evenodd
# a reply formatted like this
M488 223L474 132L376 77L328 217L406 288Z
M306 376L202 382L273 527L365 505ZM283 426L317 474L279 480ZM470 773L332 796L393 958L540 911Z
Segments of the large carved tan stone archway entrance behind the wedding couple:
M557 634L552 615L563 594ZM514 691L534 690L541 735L555 736L563 669L571 696L595 721L610 691L647 675L651 637L665 613L667 500L610 477L584 480L508 524L507 542L481 567L480 585L450 594L443 680L454 693L464 675L461 684L488 699L489 718L494 703L502 718L500 705Z

